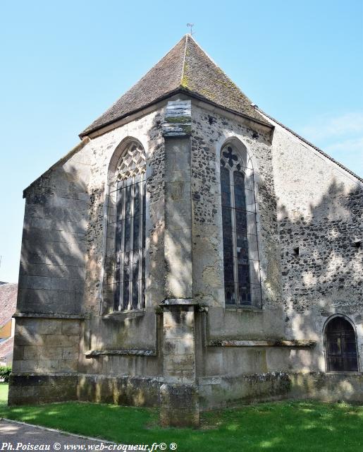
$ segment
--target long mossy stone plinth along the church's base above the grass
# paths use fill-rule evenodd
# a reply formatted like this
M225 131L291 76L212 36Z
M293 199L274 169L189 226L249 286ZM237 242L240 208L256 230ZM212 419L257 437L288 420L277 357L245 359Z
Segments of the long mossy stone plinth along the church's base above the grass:
M324 372L199 377L198 385L164 383L163 377L97 374L11 374L9 405L82 400L160 407L164 426L197 427L199 410L280 399L363 402L363 374Z

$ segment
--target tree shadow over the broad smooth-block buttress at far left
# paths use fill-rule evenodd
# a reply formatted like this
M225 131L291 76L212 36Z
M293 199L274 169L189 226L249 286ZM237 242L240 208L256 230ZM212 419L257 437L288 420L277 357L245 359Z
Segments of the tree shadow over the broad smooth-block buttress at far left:
M49 170L25 192L14 373L77 370L90 196L88 168L73 165Z

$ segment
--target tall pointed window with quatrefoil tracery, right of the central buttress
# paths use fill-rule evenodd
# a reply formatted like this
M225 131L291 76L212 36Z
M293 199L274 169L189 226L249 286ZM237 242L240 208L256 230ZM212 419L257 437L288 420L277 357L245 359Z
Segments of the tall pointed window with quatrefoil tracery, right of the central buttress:
M223 266L227 306L262 306L253 168L245 148L221 150Z

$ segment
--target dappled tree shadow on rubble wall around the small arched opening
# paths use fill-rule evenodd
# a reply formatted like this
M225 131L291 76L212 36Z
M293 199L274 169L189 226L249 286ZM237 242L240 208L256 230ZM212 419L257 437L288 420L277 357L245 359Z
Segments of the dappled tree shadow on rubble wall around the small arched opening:
M334 179L309 208L295 198L278 209L285 327L288 337L316 340L318 353L292 351L291 365L325 371L324 323L333 314L355 323L363 355L362 188Z

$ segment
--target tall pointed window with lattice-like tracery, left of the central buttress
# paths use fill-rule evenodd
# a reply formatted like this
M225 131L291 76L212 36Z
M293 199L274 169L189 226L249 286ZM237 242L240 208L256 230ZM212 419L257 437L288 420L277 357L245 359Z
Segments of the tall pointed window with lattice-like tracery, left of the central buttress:
M115 155L109 174L104 311L130 311L144 309L146 158L135 140Z

